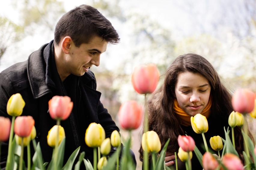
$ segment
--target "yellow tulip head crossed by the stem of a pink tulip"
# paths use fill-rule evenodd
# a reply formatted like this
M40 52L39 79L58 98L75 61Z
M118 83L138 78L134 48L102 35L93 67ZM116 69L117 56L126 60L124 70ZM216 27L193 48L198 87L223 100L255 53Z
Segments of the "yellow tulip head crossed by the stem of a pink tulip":
M47 135L47 143L50 147L54 148L56 144L56 137L57 137L57 128L58 125L54 125L48 132ZM59 143L64 139L65 137L65 131L62 126L59 125Z

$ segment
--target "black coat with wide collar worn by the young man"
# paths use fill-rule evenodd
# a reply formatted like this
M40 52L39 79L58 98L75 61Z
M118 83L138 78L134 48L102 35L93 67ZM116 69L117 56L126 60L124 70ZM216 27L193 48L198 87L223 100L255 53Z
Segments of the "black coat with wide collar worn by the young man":
M28 60L16 63L0 73L0 116L9 116L7 102L16 93L20 93L26 103L21 116L30 115L35 119L36 141L40 142L45 162L50 162L53 151L47 145L47 134L56 125L48 113L48 101L54 95L68 95L74 102L69 118L61 121L66 133L64 163L79 146L80 151L85 151L85 158L93 162L92 148L87 147L84 140L85 131L91 122L102 125L106 138L111 136L113 130L119 131L99 100L101 93L96 91L93 72L88 71L80 77L69 75L61 82L54 60L53 41L30 54ZM7 151L8 142L2 143L1 167L5 164Z

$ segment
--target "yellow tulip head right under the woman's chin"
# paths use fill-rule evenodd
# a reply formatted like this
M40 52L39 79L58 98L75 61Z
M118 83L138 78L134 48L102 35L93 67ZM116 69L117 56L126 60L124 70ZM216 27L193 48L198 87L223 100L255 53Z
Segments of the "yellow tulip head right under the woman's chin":
M208 131L208 122L205 116L196 114L194 117L191 116L191 125L196 133L205 133Z

